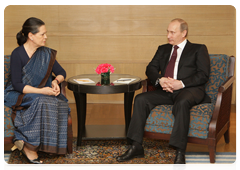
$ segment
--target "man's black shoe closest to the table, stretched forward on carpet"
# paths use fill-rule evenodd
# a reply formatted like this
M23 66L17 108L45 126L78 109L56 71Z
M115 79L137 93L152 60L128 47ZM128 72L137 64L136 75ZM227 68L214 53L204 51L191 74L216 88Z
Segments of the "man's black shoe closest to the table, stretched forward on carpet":
M144 157L143 147L139 149L135 145L132 145L123 155L118 156L116 160L118 162L124 162L124 161L129 161L133 158L143 158L143 157Z

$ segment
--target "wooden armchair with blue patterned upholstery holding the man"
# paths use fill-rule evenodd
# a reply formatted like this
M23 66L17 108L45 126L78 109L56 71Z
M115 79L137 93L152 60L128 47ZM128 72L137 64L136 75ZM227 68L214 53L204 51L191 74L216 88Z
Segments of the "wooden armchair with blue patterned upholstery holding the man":
M222 135L225 142L229 143L235 58L210 54L210 61L210 78L206 84L206 92L212 103L199 104L191 109L188 142L208 145L210 162L214 163L216 144ZM143 92L155 90L148 80L144 80L142 84ZM156 106L147 119L144 136L169 140L174 123L171 113L172 105Z

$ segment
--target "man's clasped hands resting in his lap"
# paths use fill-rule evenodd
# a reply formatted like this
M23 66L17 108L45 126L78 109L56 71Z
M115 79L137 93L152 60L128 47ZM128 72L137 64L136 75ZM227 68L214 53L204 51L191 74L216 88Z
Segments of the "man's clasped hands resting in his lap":
M170 77L162 77L159 81L159 84L162 86L163 90L170 93L173 93L174 90L183 88L182 82L180 80L175 80Z

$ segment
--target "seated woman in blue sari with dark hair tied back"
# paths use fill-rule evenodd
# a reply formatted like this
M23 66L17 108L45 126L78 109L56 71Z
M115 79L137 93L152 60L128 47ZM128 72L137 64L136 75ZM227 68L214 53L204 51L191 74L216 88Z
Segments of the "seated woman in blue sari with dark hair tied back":
M56 51L45 47L46 33L40 19L25 21L17 34L19 47L11 54L11 80L4 90L4 104L13 109L14 144L36 164L42 163L38 151L67 153L69 107L58 85L66 72L55 59Z

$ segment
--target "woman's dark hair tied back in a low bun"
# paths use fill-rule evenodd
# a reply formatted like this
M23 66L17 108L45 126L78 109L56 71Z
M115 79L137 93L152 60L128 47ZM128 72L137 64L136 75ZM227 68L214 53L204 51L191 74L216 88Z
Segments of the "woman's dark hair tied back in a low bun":
M23 45L27 39L28 39L28 33L31 32L32 34L36 34L39 32L38 28L42 25L45 25L45 23L38 19L38 18L28 18L23 26L22 30L17 33L17 43L19 46Z

